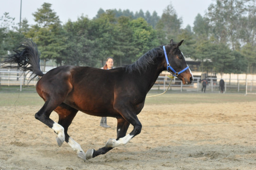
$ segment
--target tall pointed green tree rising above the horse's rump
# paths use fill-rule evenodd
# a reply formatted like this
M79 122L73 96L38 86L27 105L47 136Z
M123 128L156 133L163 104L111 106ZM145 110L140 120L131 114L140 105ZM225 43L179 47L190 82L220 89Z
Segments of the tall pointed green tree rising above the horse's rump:
M39 8L33 16L37 24L32 26L26 36L33 38L41 51L42 70L44 71L46 61L50 59L54 59L57 65L61 65L63 56L60 54L66 49L66 38L59 17L51 9L50 3L43 3L42 8Z

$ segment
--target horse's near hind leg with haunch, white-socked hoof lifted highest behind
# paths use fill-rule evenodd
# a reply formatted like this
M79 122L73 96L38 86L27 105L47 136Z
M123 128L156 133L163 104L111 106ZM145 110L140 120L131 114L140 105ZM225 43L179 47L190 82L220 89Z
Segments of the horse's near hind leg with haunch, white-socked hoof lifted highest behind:
M41 110L35 114L35 119L40 120L48 127L52 128L57 136L59 146L65 141L64 127L51 120L50 114L66 99L68 93L72 90L69 82L70 74L68 71L62 71L58 77L54 72L48 72L37 83L36 91L45 101ZM58 90L56 90L58 89Z

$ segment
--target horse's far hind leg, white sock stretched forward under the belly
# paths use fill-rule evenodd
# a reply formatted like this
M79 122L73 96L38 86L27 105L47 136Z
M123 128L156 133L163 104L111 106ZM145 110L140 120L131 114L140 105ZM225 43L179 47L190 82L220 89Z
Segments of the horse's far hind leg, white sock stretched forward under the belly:
M61 103L54 111L56 111L59 115L58 124L60 124L64 128L65 133L65 141L71 146L71 148L77 152L77 156L85 160L85 152L81 148L80 144L78 144L74 139L72 139L68 135L68 127L71 124L72 120L75 118L77 111L76 109L68 106L65 103ZM61 145L63 143L62 140L59 139L59 136L56 138L57 143ZM62 142L62 143L61 143Z

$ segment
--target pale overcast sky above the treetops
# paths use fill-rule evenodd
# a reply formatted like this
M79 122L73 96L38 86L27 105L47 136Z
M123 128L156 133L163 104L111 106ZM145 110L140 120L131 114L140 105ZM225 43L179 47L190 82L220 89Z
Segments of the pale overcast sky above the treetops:
M8 12L10 17L15 17L15 23L19 23L20 2L21 0L0 0L0 17ZM214 0L22 0L21 19L26 18L29 25L35 24L32 13L41 8L44 2L52 4L51 9L56 12L63 24L68 19L77 21L77 18L82 15L93 19L100 8L103 10L129 9L134 14L140 9L144 13L148 10L150 14L156 11L161 17L163 10L172 4L178 17L182 18L182 28L185 28L187 25L193 27L197 14L204 16Z

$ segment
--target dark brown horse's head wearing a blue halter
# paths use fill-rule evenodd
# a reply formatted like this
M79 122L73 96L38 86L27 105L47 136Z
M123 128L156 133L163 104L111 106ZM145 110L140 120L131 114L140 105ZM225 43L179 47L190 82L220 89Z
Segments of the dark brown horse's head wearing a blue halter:
M163 46L166 62L164 64L167 71L173 76L177 76L184 85L191 84L194 77L185 61L183 53L179 50L179 46L184 40L179 43L173 42L171 39L170 44Z

